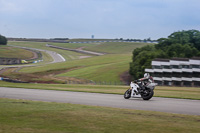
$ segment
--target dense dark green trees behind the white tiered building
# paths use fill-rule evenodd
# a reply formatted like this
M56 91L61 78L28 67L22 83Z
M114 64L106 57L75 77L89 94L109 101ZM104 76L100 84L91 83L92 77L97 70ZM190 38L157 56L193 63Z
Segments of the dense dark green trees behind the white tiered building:
M147 45L133 51L129 73L133 79L143 77L145 68L151 68L155 58L200 57L200 31L183 30L174 32L168 38L160 38L158 44Z

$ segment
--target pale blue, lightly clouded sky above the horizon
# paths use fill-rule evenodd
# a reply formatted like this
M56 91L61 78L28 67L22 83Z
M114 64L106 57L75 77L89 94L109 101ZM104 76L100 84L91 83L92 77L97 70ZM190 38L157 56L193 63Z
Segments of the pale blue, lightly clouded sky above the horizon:
M0 34L159 39L200 30L200 0L0 0Z

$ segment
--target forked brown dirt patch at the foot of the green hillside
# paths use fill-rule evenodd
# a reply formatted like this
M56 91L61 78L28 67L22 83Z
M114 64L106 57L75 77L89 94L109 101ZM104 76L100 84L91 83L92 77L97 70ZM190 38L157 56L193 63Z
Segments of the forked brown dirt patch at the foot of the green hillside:
M17 80L22 82L29 82L29 83L46 83L46 84L89 83L89 81L85 79L56 76L58 74L66 73L79 68L82 67L55 69L37 73L22 73L15 71L17 68L7 68L2 72L1 75L4 78L9 78L12 80Z

